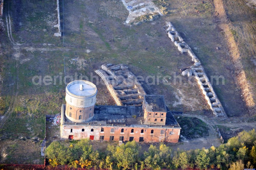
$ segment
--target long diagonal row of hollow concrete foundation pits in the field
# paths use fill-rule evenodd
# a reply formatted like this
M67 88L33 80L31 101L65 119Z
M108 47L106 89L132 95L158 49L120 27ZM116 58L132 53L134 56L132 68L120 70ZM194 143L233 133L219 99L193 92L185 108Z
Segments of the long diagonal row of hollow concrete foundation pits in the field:
M226 113L204 71L204 68L201 66L200 60L197 58L188 44L183 40L178 31L176 31L175 27L170 22L167 22L166 26L168 37L172 40L172 42L174 42L175 46L178 47L178 50L181 53L187 52L194 62L194 66L191 66L191 69L183 71L182 75L187 75L188 77L194 75L202 90L202 93L205 96L205 99L207 100L208 105L210 106L210 109L213 111L213 114L217 117L226 116Z

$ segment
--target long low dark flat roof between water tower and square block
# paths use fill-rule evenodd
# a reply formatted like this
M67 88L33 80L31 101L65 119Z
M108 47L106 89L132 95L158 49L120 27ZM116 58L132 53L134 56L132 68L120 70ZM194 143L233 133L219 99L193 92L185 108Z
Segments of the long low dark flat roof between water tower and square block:
M78 124L91 126L148 126L144 124L142 106L95 106L94 117L91 121ZM65 123L72 124L69 119ZM150 125L150 127L180 127L173 115L168 111L165 125Z

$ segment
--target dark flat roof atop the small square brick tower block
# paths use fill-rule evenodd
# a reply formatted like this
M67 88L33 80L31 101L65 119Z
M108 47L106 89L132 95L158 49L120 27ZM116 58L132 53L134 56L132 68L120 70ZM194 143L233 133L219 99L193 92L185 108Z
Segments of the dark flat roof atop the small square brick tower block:
M144 102L147 111L153 112L167 112L164 96L161 95L145 95Z

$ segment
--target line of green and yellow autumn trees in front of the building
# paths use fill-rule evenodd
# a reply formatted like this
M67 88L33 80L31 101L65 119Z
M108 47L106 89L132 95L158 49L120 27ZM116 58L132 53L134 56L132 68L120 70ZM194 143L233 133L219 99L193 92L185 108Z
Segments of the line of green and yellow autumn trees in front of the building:
M256 132L242 131L227 143L209 149L177 150L161 143L150 145L147 151L140 153L141 146L135 141L120 146L108 145L105 152L93 151L89 139L76 144L54 141L45 150L50 165L69 165L86 169L133 169L161 170L186 168L219 168L243 170L256 165Z

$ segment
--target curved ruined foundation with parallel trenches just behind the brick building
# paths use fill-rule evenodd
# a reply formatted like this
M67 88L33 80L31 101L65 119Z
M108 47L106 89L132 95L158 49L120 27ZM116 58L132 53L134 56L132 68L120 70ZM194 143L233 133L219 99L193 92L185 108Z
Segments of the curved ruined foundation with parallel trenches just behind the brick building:
M142 105L146 92L128 66L103 64L101 68L95 73L102 78L118 106Z

